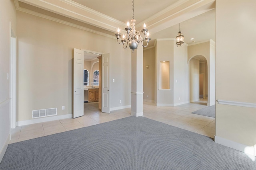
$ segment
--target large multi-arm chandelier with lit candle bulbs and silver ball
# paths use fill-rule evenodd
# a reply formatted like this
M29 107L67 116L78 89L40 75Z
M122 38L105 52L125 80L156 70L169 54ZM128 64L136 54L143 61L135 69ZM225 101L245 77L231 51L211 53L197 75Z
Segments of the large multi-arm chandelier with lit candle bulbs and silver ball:
M127 45L129 44L129 47L130 47L130 49L132 49L133 52L135 49L138 48L138 44L140 42L143 47L147 47L148 42L150 40L150 38L148 37L149 33L148 33L148 29L146 29L146 24L144 23L144 29L141 30L141 32L144 34L144 38L142 38L142 36L140 35L140 32L136 31L136 29L135 29L135 21L136 20L134 20L134 0L132 0L132 20L131 20L132 28L129 27L130 23L129 23L129 21L127 21L127 27L124 29L126 31L126 34L123 35L121 43L118 41L121 36L119 34L119 32L120 32L119 28L117 30L117 34L115 34L115 35L116 35L118 44L122 44L125 49L126 49ZM146 37L146 34L147 34L147 37ZM146 40L146 42L147 42L146 46L143 45L144 40Z

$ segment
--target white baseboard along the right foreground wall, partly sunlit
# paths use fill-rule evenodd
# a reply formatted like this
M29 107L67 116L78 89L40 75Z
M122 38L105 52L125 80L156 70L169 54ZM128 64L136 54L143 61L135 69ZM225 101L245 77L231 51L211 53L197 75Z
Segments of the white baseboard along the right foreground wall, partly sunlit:
M215 136L214 141L220 145L224 145L226 147L230 147L232 149L239 150L246 154L250 154L251 156L256 156L256 148L254 148L253 146L246 146L244 144L230 141L228 139L224 139L224 138L218 137L218 136Z

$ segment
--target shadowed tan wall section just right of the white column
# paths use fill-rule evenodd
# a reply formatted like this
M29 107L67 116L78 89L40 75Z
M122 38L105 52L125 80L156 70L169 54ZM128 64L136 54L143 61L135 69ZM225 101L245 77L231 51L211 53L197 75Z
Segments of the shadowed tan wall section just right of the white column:
M148 68L146 68L148 66ZM155 99L155 48L143 51L143 99L154 101Z

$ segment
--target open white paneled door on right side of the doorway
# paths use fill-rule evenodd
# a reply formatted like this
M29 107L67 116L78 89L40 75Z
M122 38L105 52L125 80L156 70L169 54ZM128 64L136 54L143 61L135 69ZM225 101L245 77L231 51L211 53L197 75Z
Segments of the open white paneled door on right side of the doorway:
M109 54L102 54L102 104L101 111L110 113Z

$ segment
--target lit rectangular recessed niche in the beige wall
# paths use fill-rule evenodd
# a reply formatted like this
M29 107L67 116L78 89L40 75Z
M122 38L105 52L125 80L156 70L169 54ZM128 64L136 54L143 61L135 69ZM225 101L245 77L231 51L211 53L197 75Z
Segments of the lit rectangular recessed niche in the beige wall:
M160 61L159 89L170 89L170 61Z

